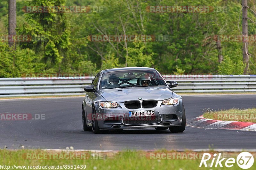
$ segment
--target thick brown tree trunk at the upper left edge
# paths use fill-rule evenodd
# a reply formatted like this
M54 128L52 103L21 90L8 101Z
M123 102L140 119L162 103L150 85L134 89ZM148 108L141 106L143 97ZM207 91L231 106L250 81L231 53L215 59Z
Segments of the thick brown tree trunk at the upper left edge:
M16 35L16 0L9 0L9 13L8 13L8 34L9 35ZM9 46L13 46L13 41L9 41ZM14 43L14 49L15 49L15 43Z

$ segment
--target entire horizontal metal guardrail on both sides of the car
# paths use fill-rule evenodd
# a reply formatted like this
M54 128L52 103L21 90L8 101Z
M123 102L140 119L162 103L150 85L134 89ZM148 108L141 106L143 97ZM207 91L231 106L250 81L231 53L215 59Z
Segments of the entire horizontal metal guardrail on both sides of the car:
M256 75L164 75L175 92L256 92ZM83 95L93 77L0 78L0 97Z

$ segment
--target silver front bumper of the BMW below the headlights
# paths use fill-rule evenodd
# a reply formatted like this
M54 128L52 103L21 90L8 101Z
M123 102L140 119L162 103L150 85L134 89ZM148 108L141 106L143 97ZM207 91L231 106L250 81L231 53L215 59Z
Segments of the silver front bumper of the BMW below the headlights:
M162 101L158 101L156 107L153 108L127 109L124 106L124 103L118 104L120 107L117 108L102 108L99 103L94 103L100 129L141 129L180 126L183 112L185 112L182 107L182 99L179 99L179 102L176 105L162 105ZM124 123L124 118L127 116L129 111L143 110L154 110L155 115L160 116L159 121L149 124Z

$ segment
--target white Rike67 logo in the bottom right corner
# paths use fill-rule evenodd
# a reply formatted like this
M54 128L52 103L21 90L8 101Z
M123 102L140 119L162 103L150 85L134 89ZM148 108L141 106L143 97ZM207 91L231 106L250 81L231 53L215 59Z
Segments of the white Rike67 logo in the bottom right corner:
M237 165L240 168L248 169L248 168L252 167L253 162L254 162L254 158L253 158L252 154L249 152L240 153L236 159L235 158L228 158L228 159L222 158L221 159L221 153L219 153L218 157L217 157L217 153L213 154L213 158L211 158L211 156L212 155L210 153L204 153L199 167L202 167L202 165L205 167L208 167L208 166L213 167L214 163L215 163L214 167L218 167L218 166L223 167L222 164L224 164L226 167L232 167L232 166L234 166L235 163L237 163ZM215 162L215 159L216 159L216 162ZM225 160L225 159L227 159L227 160ZM210 161L208 161L208 160L210 160Z

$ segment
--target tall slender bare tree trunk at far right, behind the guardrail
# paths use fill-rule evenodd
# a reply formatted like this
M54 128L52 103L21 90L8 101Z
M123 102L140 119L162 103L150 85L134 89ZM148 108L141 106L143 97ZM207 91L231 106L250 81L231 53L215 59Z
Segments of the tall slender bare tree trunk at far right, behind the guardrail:
M242 6L243 6L243 35L248 35L248 21L247 21L247 0L242 0ZM248 74L249 70L249 55L248 55L248 41L244 41L243 39L243 62L246 65L244 69L244 74Z

